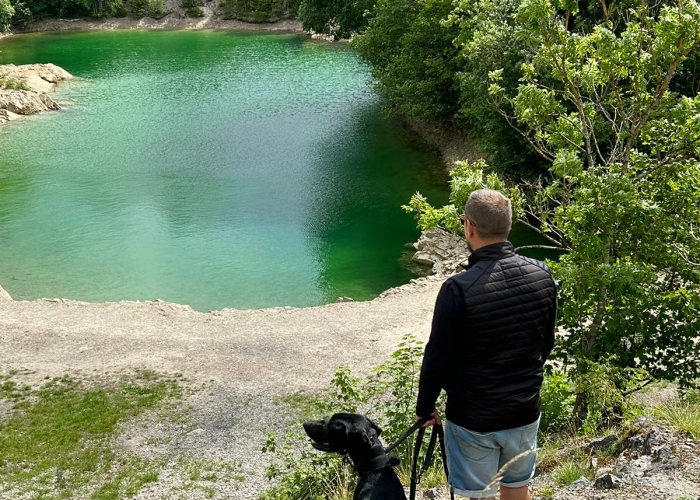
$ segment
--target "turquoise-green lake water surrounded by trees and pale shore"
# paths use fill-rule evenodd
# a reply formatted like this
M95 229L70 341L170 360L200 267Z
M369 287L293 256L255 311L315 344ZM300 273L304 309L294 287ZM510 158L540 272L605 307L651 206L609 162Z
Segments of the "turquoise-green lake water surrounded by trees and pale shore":
M32 34L0 64L80 77L0 128L0 284L17 299L198 310L369 299L438 159L384 118L342 45L216 31Z

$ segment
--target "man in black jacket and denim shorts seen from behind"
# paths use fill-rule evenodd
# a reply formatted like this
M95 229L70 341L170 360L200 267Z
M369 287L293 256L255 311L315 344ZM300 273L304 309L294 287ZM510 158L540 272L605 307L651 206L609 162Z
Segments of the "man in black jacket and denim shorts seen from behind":
M500 482L501 500L530 500L556 286L545 264L517 255L507 241L512 208L501 193L475 191L460 218L472 253L466 270L438 294L416 418L440 423L435 402L444 389L450 487L460 496L494 498Z

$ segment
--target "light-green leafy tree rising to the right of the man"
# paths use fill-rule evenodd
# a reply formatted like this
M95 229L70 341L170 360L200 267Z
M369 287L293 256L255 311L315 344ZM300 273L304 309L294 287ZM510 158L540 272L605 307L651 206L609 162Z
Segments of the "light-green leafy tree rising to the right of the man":
M689 386L700 376L700 97L672 84L700 44L700 9L600 5L592 16L524 0L521 80L493 71L490 99L550 165L519 203L521 222L563 251L550 263L566 332L555 354L575 381L605 364Z

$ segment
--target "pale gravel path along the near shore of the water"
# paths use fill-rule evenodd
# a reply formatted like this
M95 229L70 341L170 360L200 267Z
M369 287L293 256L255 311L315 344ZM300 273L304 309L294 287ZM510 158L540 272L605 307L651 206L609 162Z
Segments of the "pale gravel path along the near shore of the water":
M183 457L233 464L233 475L245 477L219 481L216 498L256 498L269 485L265 435L288 422L275 401L327 387L341 365L366 372L407 333L427 339L440 284L424 278L369 302L209 313L164 302L0 300L0 373L181 373L198 388L182 404L191 407L186 424L147 416L118 439L129 453L166 462L158 483L138 498L179 498ZM197 490L182 494L204 498Z

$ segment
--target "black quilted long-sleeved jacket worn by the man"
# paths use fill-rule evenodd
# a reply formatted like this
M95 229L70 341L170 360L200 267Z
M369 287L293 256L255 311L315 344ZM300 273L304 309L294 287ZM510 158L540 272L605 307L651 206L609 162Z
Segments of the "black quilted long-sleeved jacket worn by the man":
M556 285L549 268L510 243L478 249L443 284L421 368L416 414L435 410L476 432L534 422L543 366L554 346Z

